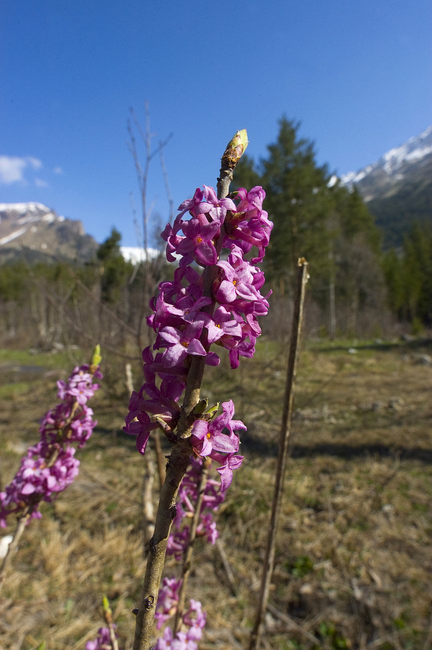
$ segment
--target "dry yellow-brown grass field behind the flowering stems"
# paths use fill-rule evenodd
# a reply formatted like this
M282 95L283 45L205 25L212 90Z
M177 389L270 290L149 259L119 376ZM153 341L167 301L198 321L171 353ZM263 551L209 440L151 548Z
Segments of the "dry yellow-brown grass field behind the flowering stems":
M425 341L308 343L301 352L264 648L432 647L432 366L421 363L425 353L431 354ZM218 521L235 585L215 547L196 544L190 595L208 614L202 650L247 646L285 360L283 346L264 340L240 369L211 369L206 378L203 394L214 402L232 397L248 432L245 463ZM4 485L36 439L38 419L55 403L56 367L68 370L71 363L3 351L0 364ZM121 366L110 364L105 359L107 382L92 403L99 424L81 453L79 477L42 506L43 518L29 525L6 578L2 649L36 650L44 641L47 650L83 649L102 624L103 594L123 649L131 649L131 610L145 565L144 463L121 433L127 396ZM175 572L173 560L166 571Z

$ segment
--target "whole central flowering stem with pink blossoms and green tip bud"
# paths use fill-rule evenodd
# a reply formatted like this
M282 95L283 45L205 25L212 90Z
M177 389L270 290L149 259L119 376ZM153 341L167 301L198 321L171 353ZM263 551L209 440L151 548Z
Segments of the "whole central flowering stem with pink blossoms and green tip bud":
M201 400L200 389L205 365L220 363L210 346L228 350L231 367L238 367L240 356L253 356L260 335L257 317L268 311L268 295L260 293L264 274L255 266L264 257L273 225L262 209L265 192L261 187L249 192L241 188L229 196L233 170L247 144L246 131L238 131L223 154L217 194L212 187L198 188L162 233L168 261L179 259L179 265L173 281L160 283L151 300L153 314L147 323L155 330L155 344L142 354L145 383L131 396L125 431L136 436L142 454L157 428L173 448L149 542L134 650L151 647L164 558L177 513L175 498L190 461L215 461L222 491L242 463L238 431L245 426L234 419L233 401L224 402L218 414L218 406L209 408ZM178 542L177 536L170 545ZM200 616L196 613L195 619ZM170 639L159 647L171 647Z

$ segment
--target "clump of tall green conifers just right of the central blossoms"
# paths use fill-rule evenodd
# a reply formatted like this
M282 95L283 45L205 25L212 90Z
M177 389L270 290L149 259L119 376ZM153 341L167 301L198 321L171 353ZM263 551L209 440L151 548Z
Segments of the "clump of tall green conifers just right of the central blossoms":
M333 301L334 313L336 294L336 302L343 302L344 312L349 312L342 329L355 330L362 307L378 308L383 299L381 238L359 192L340 183L329 187L329 179L327 165L316 161L313 142L302 138L299 123L286 117L279 121L267 157L257 165L245 157L236 171L239 186L266 187L275 231L266 269L275 292L292 289L296 261L304 255L313 271L314 301L324 311Z

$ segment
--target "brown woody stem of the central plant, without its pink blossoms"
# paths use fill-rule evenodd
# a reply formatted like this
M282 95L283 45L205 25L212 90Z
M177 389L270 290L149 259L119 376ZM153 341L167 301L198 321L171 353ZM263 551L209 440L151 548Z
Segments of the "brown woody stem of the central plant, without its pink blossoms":
M237 135L237 134L236 134ZM236 137L236 136L235 136ZM247 139L247 138L246 138ZM233 138L234 140L234 138ZM236 163L233 163L233 140L227 146L222 157L220 168L220 177L218 178L218 198L225 198L229 193L229 185L233 179L233 169ZM235 147L240 144L235 143ZM242 151L236 149L237 161L240 159L246 144L242 145ZM220 237L216 242L216 250L219 253L223 242L223 226ZM218 274L217 266L206 266L203 274L203 295L212 297L212 285ZM214 301L203 311L212 313L214 310ZM136 627L133 650L150 650L151 634L153 630L153 621L155 619L155 608L159 593L160 578L164 568L166 554L166 545L172 521L175 517L176 506L175 498L179 491L181 480L189 464L192 447L190 444L190 435L194 417L192 411L197 406L200 399L201 383L205 368L205 359L194 356L190 362L188 376L186 379L186 388L184 392L183 406L177 426L177 441L173 445L170 458L166 467L165 482L160 490L159 506L155 521L155 532L149 542L149 554L147 557L146 574L142 586L140 606L136 614Z

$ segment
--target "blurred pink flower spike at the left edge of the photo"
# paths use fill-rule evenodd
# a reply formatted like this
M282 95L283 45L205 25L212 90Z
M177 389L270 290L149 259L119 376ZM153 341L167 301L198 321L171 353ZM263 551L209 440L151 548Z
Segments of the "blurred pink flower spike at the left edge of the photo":
M87 401L99 389L94 378L101 377L99 367L82 365L73 370L67 382L57 382L57 396L62 401L45 413L39 442L29 447L18 472L0 492L0 526L6 526L11 513L25 512L40 519L40 502L50 501L71 484L79 467L73 443L83 447L97 424Z

